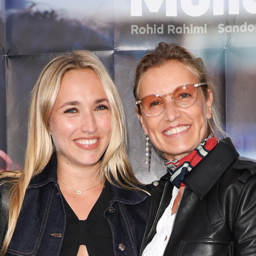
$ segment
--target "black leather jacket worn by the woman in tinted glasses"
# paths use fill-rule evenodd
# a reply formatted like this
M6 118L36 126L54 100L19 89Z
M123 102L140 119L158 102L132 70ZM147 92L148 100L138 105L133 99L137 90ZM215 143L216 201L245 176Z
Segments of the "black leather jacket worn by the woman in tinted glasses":
M185 177L164 255L256 255L256 163L238 160L221 140ZM156 233L173 185L166 174L151 185L151 210L141 252Z

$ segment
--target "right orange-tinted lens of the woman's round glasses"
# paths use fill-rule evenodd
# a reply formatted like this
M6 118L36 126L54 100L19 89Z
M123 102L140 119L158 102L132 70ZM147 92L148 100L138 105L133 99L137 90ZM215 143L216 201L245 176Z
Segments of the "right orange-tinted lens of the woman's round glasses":
M179 86L173 91L174 102L183 108L191 106L196 98L196 88L191 84Z

